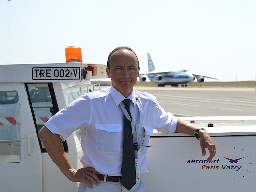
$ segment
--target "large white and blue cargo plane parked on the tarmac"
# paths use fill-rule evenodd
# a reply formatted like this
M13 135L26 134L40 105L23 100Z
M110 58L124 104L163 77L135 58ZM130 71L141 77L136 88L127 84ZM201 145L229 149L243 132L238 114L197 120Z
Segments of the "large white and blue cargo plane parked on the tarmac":
M140 73L140 81L146 81L146 77L144 75L147 75L150 81L158 83L159 87L164 87L165 85L178 87L179 84L182 84L181 87L184 87L184 84L185 87L187 87L187 83L194 81L195 77L197 78L198 82L204 82L204 78L216 79L212 77L192 74L187 69L155 70L149 53L147 53L147 55L148 72Z

